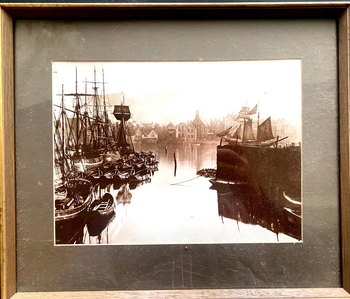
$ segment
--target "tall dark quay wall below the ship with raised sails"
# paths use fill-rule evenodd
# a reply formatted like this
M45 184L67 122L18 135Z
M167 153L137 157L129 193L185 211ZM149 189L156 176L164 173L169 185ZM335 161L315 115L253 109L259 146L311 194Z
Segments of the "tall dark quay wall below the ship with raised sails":
M301 199L301 147L217 147L216 181L245 183L255 192Z

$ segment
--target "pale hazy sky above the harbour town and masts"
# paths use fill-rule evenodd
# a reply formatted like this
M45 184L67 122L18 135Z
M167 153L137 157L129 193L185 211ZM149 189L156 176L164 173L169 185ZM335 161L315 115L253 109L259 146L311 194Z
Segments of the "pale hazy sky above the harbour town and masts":
M124 92L132 120L160 124L194 120L200 116L222 118L238 114L242 106L253 108L259 102L260 117L284 117L301 122L301 60L195 61L195 62L53 62L52 95L58 104L62 84L64 93L78 85L85 92L85 78L98 82L102 69L106 94ZM102 93L102 84L99 84ZM93 93L88 83L87 93ZM112 97L111 97L112 99ZM66 97L69 100L69 97ZM111 101L111 104L118 104Z

